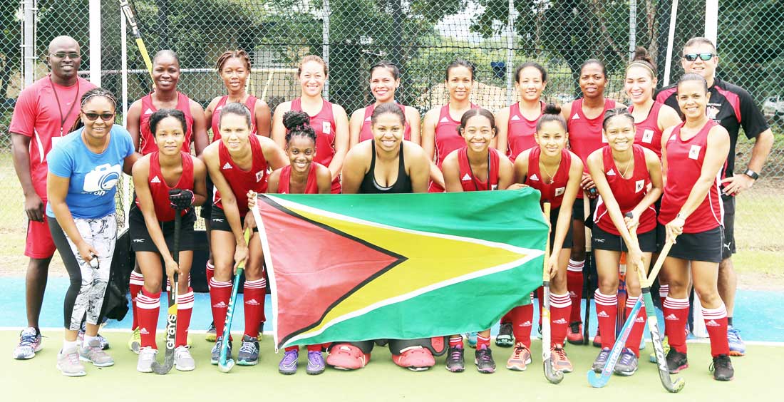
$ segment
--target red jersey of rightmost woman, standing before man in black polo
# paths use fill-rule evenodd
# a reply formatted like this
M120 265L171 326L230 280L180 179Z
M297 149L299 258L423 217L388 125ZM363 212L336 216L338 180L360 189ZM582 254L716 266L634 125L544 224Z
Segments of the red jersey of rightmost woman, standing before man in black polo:
M708 146L708 133L715 121L708 121L696 136L691 139L681 139L681 128L684 123L673 129L672 136L667 140L667 184L664 187L662 206L659 208L659 223L666 225L675 219L675 215L688 199L691 188L699 179L702 172L702 163L705 162L705 151ZM699 207L691 212L686 223L684 233L700 233L724 225L724 206L719 198L720 172L716 175L715 183L708 190L705 199Z

